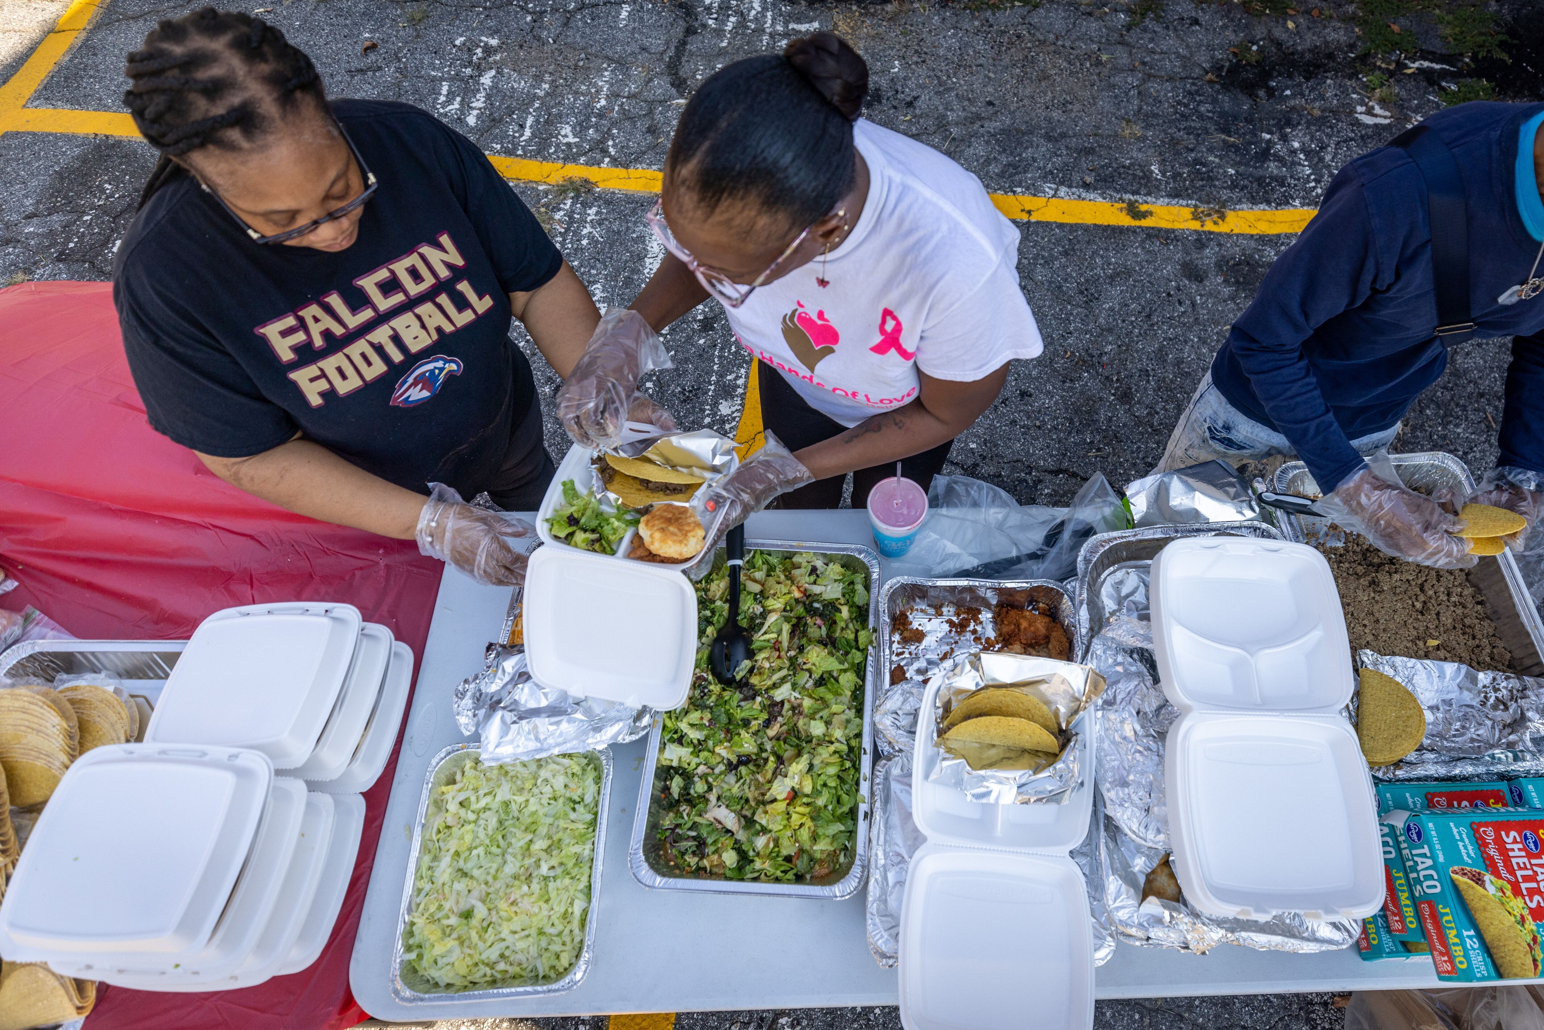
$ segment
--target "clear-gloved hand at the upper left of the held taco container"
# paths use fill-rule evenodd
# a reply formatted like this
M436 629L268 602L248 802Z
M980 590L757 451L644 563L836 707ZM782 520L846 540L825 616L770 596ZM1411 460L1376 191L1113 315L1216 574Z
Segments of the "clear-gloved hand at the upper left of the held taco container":
M611 307L557 391L557 420L576 443L601 451L622 442L627 422L675 429L670 412L638 391L644 372L667 368L670 355L644 317Z

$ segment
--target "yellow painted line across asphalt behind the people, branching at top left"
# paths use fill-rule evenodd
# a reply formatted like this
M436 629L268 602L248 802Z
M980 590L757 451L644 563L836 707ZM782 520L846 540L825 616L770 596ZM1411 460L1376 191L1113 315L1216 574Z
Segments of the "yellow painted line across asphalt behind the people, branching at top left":
M54 31L26 59L26 63L0 86L0 134L3 133L65 133L83 136L139 136L128 114L113 111L68 111L29 108L32 97L48 74L69 53L71 45L86 29L91 17L107 0L76 0L59 19ZM584 179L602 190L658 193L661 174L650 168L604 168L571 165L556 161L531 161L489 154L488 161L506 179L554 185L568 179ZM1027 193L993 193L997 210L1016 221L1068 222L1078 225L1122 225L1143 229L1189 229L1215 233L1280 235L1302 232L1312 208L1224 210L1217 207L1181 207L1173 204L1139 204L1136 201L1075 201ZM753 389L753 383L752 383ZM749 395L749 394L747 394ZM757 426L760 432L760 425ZM753 435L753 434L752 434Z

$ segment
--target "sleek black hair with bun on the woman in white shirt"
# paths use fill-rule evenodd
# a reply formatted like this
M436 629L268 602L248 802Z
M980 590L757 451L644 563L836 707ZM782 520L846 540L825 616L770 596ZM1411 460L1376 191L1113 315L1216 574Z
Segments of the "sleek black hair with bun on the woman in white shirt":
M670 142L672 181L712 212L753 201L791 225L824 218L852 188L852 122L868 65L832 32L747 57L703 82Z

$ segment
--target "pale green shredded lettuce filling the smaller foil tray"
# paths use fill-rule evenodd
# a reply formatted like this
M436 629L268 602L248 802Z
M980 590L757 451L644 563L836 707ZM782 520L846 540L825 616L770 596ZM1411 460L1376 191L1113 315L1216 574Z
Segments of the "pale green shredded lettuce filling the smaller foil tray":
M584 948L599 797L587 755L462 766L431 800L406 961L455 991L562 979Z

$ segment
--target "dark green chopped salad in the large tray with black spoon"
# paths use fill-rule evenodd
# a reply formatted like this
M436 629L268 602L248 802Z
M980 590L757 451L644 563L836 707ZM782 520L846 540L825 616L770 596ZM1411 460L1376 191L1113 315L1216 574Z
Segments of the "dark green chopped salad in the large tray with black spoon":
M738 689L707 666L729 618L727 571L698 584L692 695L664 713L658 758L659 842L675 868L792 883L851 865L871 639L865 581L818 554L747 554L740 621L753 656Z

